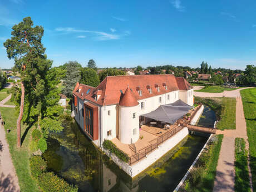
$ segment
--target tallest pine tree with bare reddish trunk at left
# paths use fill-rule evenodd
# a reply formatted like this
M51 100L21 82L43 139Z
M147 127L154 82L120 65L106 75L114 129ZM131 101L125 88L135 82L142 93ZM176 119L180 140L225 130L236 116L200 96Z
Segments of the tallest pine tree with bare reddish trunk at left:
M41 43L43 27L32 26L33 22L30 17L23 18L22 22L12 27L11 39L4 42L7 57L14 59L14 67L21 73L21 105L17 120L18 147L21 147L21 121L23 117L25 88L27 91L31 91L31 88L35 89L36 95L41 95L41 86L45 83L39 77L42 74L38 74L38 68L35 68L46 57L44 55L45 48ZM40 71L48 67L47 63L44 64Z

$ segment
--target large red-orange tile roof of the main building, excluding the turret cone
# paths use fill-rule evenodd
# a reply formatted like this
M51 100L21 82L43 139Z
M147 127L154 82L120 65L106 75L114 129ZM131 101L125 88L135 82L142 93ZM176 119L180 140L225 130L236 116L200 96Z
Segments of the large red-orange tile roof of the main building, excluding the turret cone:
M181 78L181 80L179 78ZM167 90L164 87L164 83L167 85ZM159 92L155 85L159 85ZM115 105L120 103L121 95L126 91L127 86L131 89L136 101L171 91L188 90L191 87L183 77L175 78L174 75L170 74L107 76L97 87L91 87L83 84L80 84L79 87L76 86L73 94L83 100L86 99L87 101L91 101L101 106ZM137 91L137 87L140 87L142 92L141 96L139 95L139 91ZM152 88L151 93L147 90L149 87ZM80 92L78 91L79 88L81 88ZM90 91L87 93L89 89ZM98 90L101 91L101 95L96 101L95 92Z

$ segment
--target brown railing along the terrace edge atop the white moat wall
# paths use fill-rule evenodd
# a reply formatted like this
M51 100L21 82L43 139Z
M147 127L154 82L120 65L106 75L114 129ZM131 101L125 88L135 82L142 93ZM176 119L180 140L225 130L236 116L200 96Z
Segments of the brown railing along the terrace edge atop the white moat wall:
M132 155L129 160L129 164L132 165L136 163L137 161L144 158L147 154L149 154L151 151L156 149L157 146L159 146L161 143L163 143L165 140L169 139L170 137L174 136L177 132L179 132L181 129L183 129L183 126L177 126L174 129L165 132L160 137L157 137L156 139L150 141L150 145L139 150L135 155Z

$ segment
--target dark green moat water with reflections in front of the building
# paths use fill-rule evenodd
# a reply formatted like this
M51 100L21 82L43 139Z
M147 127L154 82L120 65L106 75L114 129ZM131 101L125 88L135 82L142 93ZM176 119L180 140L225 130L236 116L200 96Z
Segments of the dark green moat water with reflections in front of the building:
M66 121L64 127L61 133L51 134L43 157L49 170L86 192L172 191L207 139L189 135L144 173L131 179L93 146L76 123Z

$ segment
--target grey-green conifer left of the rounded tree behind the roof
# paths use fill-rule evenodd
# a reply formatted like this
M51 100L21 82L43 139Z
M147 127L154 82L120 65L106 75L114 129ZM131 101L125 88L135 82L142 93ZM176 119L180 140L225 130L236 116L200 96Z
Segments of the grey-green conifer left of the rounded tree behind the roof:
M63 94L67 97L72 96L72 91L75 88L75 85L78 81L80 81L80 68L77 65L76 61L68 61L65 63L67 68L66 76L63 78L63 84L65 87L63 88Z

